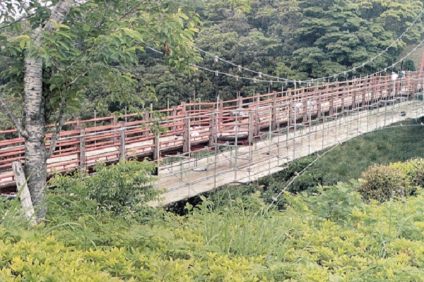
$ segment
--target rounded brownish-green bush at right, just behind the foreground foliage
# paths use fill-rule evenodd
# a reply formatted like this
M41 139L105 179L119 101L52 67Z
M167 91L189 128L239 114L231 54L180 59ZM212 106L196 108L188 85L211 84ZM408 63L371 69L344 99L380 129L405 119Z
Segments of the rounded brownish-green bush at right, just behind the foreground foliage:
M365 200L384 202L393 196L411 194L411 182L399 167L375 164L363 172L363 180L359 191Z

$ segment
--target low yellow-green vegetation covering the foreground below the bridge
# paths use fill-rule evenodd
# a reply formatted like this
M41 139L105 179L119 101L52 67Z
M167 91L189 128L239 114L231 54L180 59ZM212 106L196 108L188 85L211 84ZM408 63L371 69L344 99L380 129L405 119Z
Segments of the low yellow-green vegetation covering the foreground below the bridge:
M143 182L127 169L138 165L99 168L105 191ZM282 211L255 192L176 216L143 204L117 214L104 207L121 200L105 205L91 182L58 176L35 227L18 202L1 204L1 281L424 281L420 188L364 202L360 183L338 183L285 193Z

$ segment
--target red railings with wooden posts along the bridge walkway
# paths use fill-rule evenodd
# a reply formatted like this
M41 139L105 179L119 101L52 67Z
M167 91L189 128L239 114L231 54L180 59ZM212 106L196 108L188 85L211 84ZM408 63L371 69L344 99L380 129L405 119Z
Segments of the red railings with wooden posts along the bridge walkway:
M160 117L145 112L141 116L128 114L119 118L107 116L84 121L76 118L65 123L67 130L61 132L47 166L49 172L54 172L90 167L98 161L117 161L122 157L158 159L164 152L187 152L202 143L213 145L216 138L231 138L235 131L254 136L263 128L287 128L294 122L307 122L312 116L334 116L339 110L363 109L381 100L411 99L420 92L422 80L418 73L407 73L396 82L391 81L390 76L373 76L218 103L182 103L158 111ZM130 121L120 121L124 118ZM249 128L249 121L254 123L254 133L245 130ZM97 124L101 125L95 126ZM158 124L160 133L155 133ZM16 130L0 131L0 187L14 183L11 162L25 159L24 138L2 140L13 134L17 135ZM47 134L47 147L50 138L51 134Z

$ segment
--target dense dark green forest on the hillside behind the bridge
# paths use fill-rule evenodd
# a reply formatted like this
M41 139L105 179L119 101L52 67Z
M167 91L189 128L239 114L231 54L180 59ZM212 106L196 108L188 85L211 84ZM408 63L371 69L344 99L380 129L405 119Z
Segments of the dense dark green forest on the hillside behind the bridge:
M423 2L414 0L175 0L175 5L184 13L197 14L201 21L194 46L236 65L295 80L331 76L361 66L389 47L423 9ZM5 30L19 32L10 27L0 32ZM391 65L409 46L420 42L422 32L423 24L418 20L383 56L351 75L366 75ZM158 49L165 54L164 47ZM213 56L198 55L203 57L199 66L254 78L252 73L216 63ZM139 62L131 71L142 83L125 91L143 92L143 99L116 101L113 90L105 90L105 82L96 80L81 96L86 106L69 115L92 118L95 109L98 116L107 116L151 103L154 109L163 109L190 99L211 101L218 95L232 99L237 94L246 97L288 87L216 77L198 70L187 74L175 69L166 56L148 49L138 51L137 56ZM413 61L407 60L396 71L415 68ZM8 73L3 72L0 83L7 79Z

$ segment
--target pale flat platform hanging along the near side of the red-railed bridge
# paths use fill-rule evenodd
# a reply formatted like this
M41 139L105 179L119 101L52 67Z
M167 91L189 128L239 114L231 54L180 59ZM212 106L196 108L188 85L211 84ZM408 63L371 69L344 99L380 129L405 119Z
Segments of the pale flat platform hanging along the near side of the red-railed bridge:
M218 145L216 152L219 153L214 154L214 150L208 157L182 154L179 160L160 166L160 177L155 185L167 192L160 202L153 205L185 200L231 183L252 183L282 171L295 159L393 123L422 116L422 101L391 104L369 111L345 111L340 113L339 118L324 123L266 133L251 146Z

